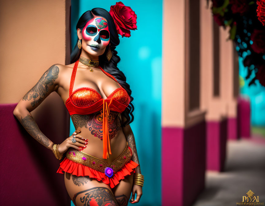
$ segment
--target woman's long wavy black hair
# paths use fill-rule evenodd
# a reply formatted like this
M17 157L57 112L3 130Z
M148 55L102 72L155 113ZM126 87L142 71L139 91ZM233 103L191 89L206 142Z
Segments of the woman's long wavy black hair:
M126 124L130 124L134 119L134 116L132 115L132 112L134 111L134 106L132 105L133 97L131 96L132 90L130 89L130 85L126 82L126 77L123 74L123 72L120 71L117 67L117 63L121 60L121 58L117 55L118 52L115 50L115 48L117 45L120 44L120 39L119 39L119 35L117 32L114 20L107 10L102 9L102 8L94 8L82 14L82 16L79 18L77 22L76 30L77 29L83 30L86 23L89 20L94 18L93 14L95 16L103 17L107 20L109 34L110 34L110 38L109 38L109 42L111 45L110 50L112 51L112 57L108 61L107 56L106 56L108 49L109 49L109 45L108 45L106 47L104 54L98 57L99 66L102 67L104 71L106 71L107 73L115 77L115 79L120 83L122 88L124 88L127 91L127 93L129 94L131 98L131 101L128 107L122 112L122 115L125 116L125 118L127 119L124 122L124 124L121 125L122 127L124 127ZM77 42L78 42L78 38L77 38ZM76 62L79 59L80 54L81 54L81 49L78 48L77 42L76 42L75 47L73 48L73 51L71 52L71 63ZM132 116L132 119L130 118L129 114Z

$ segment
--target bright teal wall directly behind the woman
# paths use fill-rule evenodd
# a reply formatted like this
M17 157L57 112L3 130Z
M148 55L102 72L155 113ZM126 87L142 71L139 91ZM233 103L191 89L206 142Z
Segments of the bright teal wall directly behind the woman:
M122 2L137 15L137 30L131 31L129 38L120 36L116 48L121 57L118 68L124 72L134 98L134 121L130 125L144 175L143 195L137 205L156 206L161 205L162 0ZM115 4L109 0L72 0L72 46L77 41L76 23L84 12L95 7L109 11ZM70 134L74 131L71 122Z

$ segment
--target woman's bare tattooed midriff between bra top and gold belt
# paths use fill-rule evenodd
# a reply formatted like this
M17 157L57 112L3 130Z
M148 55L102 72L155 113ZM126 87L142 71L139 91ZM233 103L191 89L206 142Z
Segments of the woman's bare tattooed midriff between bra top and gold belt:
M107 159L103 158L101 112L99 111L89 115L74 114L71 115L71 119L76 131L81 131L79 135L84 139L88 139L88 144L82 152L104 160L110 165L124 151L127 140L121 127L121 113L113 111L109 113L108 123L111 154L109 154Z

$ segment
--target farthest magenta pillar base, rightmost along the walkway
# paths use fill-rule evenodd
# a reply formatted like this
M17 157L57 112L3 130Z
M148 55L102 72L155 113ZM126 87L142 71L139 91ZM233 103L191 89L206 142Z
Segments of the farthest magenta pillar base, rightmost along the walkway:
M250 138L250 101L242 97L238 98L237 116L238 116L238 133L240 138Z

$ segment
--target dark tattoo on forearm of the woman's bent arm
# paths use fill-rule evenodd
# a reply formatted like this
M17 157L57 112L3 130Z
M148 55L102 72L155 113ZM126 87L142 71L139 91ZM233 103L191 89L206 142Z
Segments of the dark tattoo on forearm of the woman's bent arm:
M33 138L36 139L39 143L47 147L50 145L49 139L40 131L38 125L36 124L36 121L32 116L27 115L23 119L21 116L20 122L22 126L29 132L29 134L33 136Z

